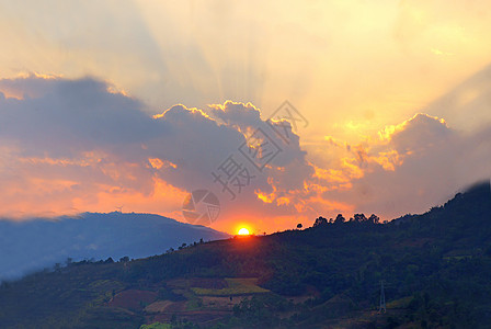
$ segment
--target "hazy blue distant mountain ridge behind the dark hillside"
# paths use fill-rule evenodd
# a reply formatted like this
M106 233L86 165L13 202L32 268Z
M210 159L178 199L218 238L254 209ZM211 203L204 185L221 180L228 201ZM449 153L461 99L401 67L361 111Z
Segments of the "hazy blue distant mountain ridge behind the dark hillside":
M0 219L0 281L65 263L163 253L182 243L229 236L152 214L84 213L77 217Z

